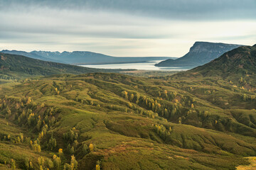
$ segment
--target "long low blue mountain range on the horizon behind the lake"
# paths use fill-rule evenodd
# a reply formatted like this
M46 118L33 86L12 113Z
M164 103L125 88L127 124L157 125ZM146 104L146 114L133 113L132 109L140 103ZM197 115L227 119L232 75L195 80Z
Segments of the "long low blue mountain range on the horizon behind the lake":
M156 60L176 59L176 57L112 57L95 52L74 51L74 52L46 52L32 51L23 52L16 50L2 50L1 52L12 55L23 55L37 60L48 62L60 62L65 64L122 64L136 62L150 62Z

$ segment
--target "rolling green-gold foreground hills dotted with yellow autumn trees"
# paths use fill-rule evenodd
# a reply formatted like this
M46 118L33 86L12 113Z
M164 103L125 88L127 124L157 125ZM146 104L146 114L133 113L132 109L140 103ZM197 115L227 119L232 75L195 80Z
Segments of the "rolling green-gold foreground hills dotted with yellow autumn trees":
M5 132L12 140L2 139L2 148L24 145L52 162L60 157L60 165L50 169L68 167L73 154L78 169L97 164L101 169L235 169L247 164L242 157L256 154L255 99L243 101L248 91L228 90L221 83L94 73L5 84L3 121L25 130L32 145ZM220 95L223 100L241 96L234 101L240 104L226 108ZM0 162L11 166L11 159L22 169L24 161L13 154ZM30 161L50 167L37 156Z

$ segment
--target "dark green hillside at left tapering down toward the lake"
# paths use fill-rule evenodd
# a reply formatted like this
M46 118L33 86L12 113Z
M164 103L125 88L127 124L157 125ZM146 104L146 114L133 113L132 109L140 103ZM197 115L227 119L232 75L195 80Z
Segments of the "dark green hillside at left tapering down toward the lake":
M85 74L91 72L120 72L122 69L92 69L57 62L44 62L21 55L0 52L0 82L52 74Z

